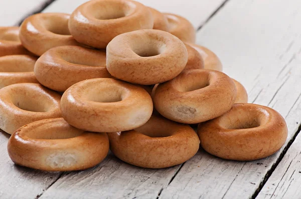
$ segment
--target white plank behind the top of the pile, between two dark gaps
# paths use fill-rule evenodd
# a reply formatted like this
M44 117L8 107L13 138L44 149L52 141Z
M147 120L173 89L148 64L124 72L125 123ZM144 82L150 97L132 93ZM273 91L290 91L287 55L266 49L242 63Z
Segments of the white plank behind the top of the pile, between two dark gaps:
M71 13L76 7L88 0L56 0L44 12ZM162 12L172 12L186 17L195 28L199 27L224 0L137 0L144 5Z

